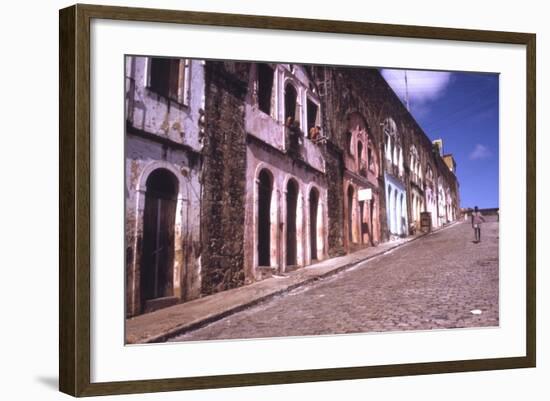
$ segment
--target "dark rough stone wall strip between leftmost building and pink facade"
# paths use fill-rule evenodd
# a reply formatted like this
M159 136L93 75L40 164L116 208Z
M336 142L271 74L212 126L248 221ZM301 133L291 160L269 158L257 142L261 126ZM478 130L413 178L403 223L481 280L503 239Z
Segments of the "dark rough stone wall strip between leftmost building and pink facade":
M202 295L244 284L246 74L240 63L205 65Z

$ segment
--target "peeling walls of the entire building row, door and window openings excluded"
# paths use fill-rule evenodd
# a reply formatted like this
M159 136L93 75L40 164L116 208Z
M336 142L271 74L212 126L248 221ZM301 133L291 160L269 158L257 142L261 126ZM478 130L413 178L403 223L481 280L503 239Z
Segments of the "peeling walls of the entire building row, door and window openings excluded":
M419 150L423 177L429 164L434 185L442 183L445 196L438 196L434 187L432 206L437 213L443 211L445 219L439 221L434 216L435 225L458 216L453 209L459 207L456 177L433 152L431 141L377 70L271 64L271 107L265 113L258 105L255 63L191 61L187 105L151 91L147 87L147 66L144 57L130 58L127 63L127 243L134 244L127 250L127 260L131 262L130 308L139 309L135 301L139 269L134 263L141 240L139 188L144 171L152 169L151 163L172 171L180 188L184 188L178 198L179 248L174 269L175 293L182 300L287 270L285 219L289 179L298 184L299 266L312 262L313 236L317 238L317 259L354 250L348 238L349 216L353 225L351 239L358 245L386 241L392 231L408 235L408 221L415 217L410 194L424 197L424 208L430 206L425 179L419 181L410 171L411 145ZM284 118L287 84L293 85L297 95L297 125L293 128L286 126ZM322 143L312 142L304 132L307 99L318 107L315 123L327 138ZM384 153L383 122L389 117L395 121L402 149L395 166L387 164ZM348 132L352 133L351 146ZM296 143L291 146L291 135L301 138L298 148L292 148ZM357 155L358 141L363 148L362 163ZM368 164L369 148L373 166ZM258 174L262 168L273 177L269 232L274 245L268 273L258 269ZM351 210L346 198L350 186L355 194ZM310 232L312 187L319 192L317 233ZM363 203L363 214L360 213L357 194L366 188L373 194L372 218L368 202ZM393 202L388 199L390 189L392 193L398 191L399 204L395 197ZM365 224L370 227L367 232Z

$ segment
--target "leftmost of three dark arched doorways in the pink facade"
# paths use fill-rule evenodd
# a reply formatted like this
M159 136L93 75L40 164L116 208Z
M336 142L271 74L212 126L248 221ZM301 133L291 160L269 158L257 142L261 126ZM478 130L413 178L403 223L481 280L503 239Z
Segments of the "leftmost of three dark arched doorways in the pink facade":
M271 196L273 180L267 170L258 177L258 266L271 265Z

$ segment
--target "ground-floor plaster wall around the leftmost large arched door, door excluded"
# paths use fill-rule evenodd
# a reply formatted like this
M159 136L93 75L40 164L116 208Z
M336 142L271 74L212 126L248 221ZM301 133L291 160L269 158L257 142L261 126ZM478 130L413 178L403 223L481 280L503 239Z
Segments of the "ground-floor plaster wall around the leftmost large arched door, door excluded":
M200 182L199 169L188 154L161 144L129 137L126 142L126 264L129 270L128 304L138 313L140 258L146 175L154 169L169 170L178 179L175 224L174 296L190 300L200 295Z

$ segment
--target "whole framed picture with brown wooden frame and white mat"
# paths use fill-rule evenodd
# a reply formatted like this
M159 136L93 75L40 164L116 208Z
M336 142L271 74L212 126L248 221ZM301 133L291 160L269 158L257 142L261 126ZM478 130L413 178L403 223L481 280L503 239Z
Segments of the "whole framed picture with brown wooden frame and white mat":
M75 5L60 155L65 393L535 366L534 34Z

